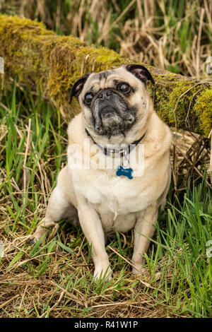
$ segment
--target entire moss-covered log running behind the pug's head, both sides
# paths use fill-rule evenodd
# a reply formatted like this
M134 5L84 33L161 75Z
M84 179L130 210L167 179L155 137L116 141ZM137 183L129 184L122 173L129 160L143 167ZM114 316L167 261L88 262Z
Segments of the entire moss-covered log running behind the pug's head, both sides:
M42 23L0 14L0 56L5 73L0 75L1 90L8 77L42 90L62 114L78 112L69 105L69 89L84 73L102 71L132 63L116 52L95 49L72 36L58 36ZM212 86L191 78L148 66L155 87L149 86L155 110L170 126L190 129L208 136L212 124Z

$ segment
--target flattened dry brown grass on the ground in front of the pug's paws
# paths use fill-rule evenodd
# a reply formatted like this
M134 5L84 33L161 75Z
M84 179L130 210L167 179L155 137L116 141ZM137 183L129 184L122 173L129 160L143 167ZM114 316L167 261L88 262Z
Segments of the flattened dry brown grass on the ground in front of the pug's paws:
M148 273L145 278L139 280L129 275L128 269L128 274L125 274L122 280L122 286L128 288L127 290L116 290L117 287L111 285L105 292L98 294L95 287L88 285L90 283L88 268L93 270L93 263L83 263L83 255L86 253L80 247L76 247L71 255L57 250L52 252L52 261L42 275L30 275L29 266L33 266L36 270L36 266L40 263L40 255L30 259L26 251L21 261L8 269L8 263L18 252L23 251L25 238L21 239L20 235L23 233L16 233L15 237L13 236L13 241L5 239L4 242L5 256L1 266L0 317L138 318L178 316L171 313L172 307L163 303L163 290L158 290L158 295L154 295L155 284L152 281L151 284L148 283L148 279L150 279ZM112 256L112 251L110 256ZM77 261L78 263L76 263ZM78 274L78 278L87 280L87 284L83 281L81 284L76 283L75 287L67 287L67 278L71 277L76 282L76 274ZM156 273L155 279L157 278L160 279L160 272ZM170 269L171 279L172 271ZM137 281L136 286L134 285L135 281ZM130 284L131 287L129 287ZM115 293L116 295L114 295ZM132 295L136 294L136 300L132 300Z

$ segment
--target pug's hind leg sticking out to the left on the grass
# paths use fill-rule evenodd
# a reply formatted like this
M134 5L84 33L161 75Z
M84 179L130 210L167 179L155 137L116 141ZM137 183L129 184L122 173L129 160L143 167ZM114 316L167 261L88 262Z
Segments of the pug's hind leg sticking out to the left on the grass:
M62 218L69 218L69 220L76 219L77 211L64 194L61 181L58 181L57 186L54 188L52 195L49 198L45 218L41 221L40 225L38 225L37 230L32 237L30 237L30 244L35 243L41 237L47 236L51 230L51 227L54 227L52 235L55 235L59 229L57 221Z

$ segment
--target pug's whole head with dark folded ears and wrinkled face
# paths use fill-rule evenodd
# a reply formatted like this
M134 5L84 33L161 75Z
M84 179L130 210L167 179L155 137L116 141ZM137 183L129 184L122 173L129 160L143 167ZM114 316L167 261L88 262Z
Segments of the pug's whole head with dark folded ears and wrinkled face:
M70 93L78 98L88 129L101 136L126 135L146 107L146 80L151 73L140 65L90 73L81 77Z

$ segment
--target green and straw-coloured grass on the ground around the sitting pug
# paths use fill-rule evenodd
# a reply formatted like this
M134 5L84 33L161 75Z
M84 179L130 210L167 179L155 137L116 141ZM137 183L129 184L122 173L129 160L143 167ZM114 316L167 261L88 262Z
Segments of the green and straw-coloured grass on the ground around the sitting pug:
M43 244L25 242L45 215L47 199L65 165L66 126L57 109L16 85L2 98L0 239L5 254L0 306L5 305L0 316L212 316L211 258L206 255L206 243L212 239L212 204L204 181L188 186L180 198L170 188L142 277L131 275L126 263L133 250L130 232L117 233L107 247L114 277L105 283L93 281L91 248L81 230L66 220ZM25 188L23 170L28 178Z

